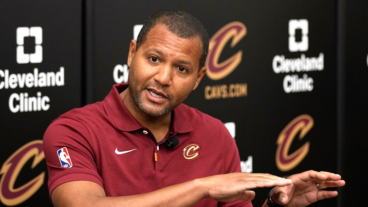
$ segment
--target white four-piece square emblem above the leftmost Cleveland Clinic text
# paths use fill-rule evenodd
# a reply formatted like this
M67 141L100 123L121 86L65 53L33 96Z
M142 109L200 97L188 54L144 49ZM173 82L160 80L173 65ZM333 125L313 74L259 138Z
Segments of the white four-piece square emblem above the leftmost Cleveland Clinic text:
M34 48L26 43L34 44ZM17 28L17 63L41 63L42 62L42 27L18 27ZM26 46L26 47L25 47ZM25 50L28 49L28 50Z

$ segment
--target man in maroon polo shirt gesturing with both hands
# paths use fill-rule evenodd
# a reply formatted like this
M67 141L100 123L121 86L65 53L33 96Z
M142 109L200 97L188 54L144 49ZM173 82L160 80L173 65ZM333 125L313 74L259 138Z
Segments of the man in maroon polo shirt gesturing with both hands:
M302 207L337 195L320 190L344 185L329 172L288 179L240 172L226 127L182 104L206 72L207 52L208 35L192 15L169 10L148 18L130 43L129 83L114 85L102 102L61 115L46 130L54 206L250 207L250 189L274 186L263 207ZM70 168L55 155L64 147Z

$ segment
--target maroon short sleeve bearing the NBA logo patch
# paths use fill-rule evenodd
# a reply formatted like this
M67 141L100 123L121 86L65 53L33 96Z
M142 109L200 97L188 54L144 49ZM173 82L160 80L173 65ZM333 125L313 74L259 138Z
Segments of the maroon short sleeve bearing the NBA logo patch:
M81 122L68 117L54 120L43 136L43 150L50 197L57 186L69 181L89 180L103 186L90 133Z

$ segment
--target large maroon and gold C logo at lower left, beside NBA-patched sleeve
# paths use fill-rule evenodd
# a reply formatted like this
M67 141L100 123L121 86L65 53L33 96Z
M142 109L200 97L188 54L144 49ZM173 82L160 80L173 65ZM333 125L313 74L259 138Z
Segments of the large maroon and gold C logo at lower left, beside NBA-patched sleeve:
M15 151L1 167L0 180L0 200L7 206L15 206L29 199L42 186L45 179L45 172L25 183L14 188L22 168L33 158L31 168L35 168L44 158L42 140L34 140Z

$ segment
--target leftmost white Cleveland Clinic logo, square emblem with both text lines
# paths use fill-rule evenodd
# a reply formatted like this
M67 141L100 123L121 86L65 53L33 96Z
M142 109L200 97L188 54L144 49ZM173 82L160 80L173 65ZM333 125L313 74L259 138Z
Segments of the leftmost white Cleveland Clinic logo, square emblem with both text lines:
M18 27L16 33L17 63L42 63L42 27ZM39 64L38 66L43 67L44 65ZM22 67L21 70L16 69L16 71L13 69L2 70L0 68L0 90L65 85L63 66L59 67L59 71L55 71L54 69L52 71L45 71L42 68L39 69L39 67L33 67L33 70L29 70L27 67ZM50 108L49 103L50 98L47 95L42 95L41 89L35 92L17 90L10 94L8 99L9 110L13 113L46 111Z

